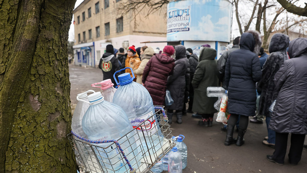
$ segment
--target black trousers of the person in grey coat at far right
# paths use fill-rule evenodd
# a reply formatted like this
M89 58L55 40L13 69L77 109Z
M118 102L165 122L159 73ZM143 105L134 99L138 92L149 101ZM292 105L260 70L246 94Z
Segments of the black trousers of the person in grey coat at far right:
M278 163L285 162L288 135L289 135L288 133L276 132L275 151L273 153L273 159ZM304 141L305 141L305 135L293 134L293 133L291 134L291 147L288 154L290 163L297 164L301 160Z

